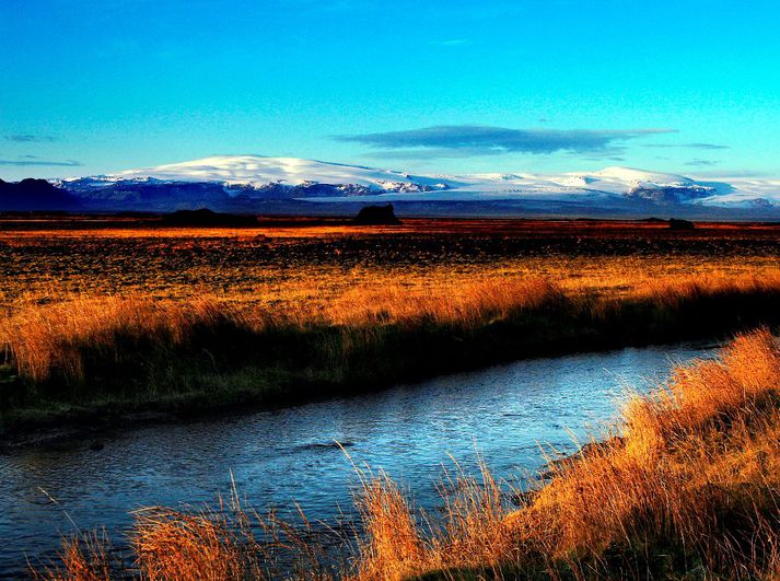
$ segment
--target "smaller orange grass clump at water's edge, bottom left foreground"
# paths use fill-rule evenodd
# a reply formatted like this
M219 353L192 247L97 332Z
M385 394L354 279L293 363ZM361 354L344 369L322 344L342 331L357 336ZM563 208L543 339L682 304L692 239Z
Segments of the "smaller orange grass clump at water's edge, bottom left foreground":
M67 537L56 563L30 572L35 579L71 581L331 581L346 566L326 561L326 550L312 542L312 524L299 512L302 522L294 524L272 511L260 515L235 488L217 507L139 509L123 551L113 553L105 532Z

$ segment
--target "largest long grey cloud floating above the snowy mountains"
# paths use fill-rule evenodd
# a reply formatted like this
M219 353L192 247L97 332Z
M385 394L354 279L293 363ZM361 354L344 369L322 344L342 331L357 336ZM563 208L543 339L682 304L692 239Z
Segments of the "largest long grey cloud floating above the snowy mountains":
M443 125L405 131L341 135L334 139L429 158L556 152L614 156L624 151L622 143L628 140L672 132L676 130L511 129L485 125Z

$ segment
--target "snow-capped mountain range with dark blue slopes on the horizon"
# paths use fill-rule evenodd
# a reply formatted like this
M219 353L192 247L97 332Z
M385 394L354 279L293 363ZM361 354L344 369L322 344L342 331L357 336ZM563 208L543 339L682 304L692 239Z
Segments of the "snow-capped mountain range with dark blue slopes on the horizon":
M263 211L264 205L502 205L551 213L648 214L707 208L780 213L780 181L695 179L629 167L562 174L412 175L295 158L219 155L58 182L85 208Z

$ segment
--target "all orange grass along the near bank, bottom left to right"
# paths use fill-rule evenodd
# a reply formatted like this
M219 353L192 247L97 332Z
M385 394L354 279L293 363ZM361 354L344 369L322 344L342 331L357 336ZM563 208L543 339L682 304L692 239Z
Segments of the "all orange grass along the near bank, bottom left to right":
M405 489L359 473L362 526L336 569L305 527L233 493L222 510L137 513L129 569L93 536L67 541L39 574L275 579L283 549L295 579L777 579L779 442L780 348L759 329L632 397L610 433L550 458L523 490L484 468L420 518Z

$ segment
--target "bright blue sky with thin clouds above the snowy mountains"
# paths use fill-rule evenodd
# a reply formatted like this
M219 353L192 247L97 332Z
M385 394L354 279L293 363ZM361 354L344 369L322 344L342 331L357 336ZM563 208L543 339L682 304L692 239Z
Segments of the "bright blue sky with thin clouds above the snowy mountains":
M780 5L2 0L0 177L222 153L780 175Z

